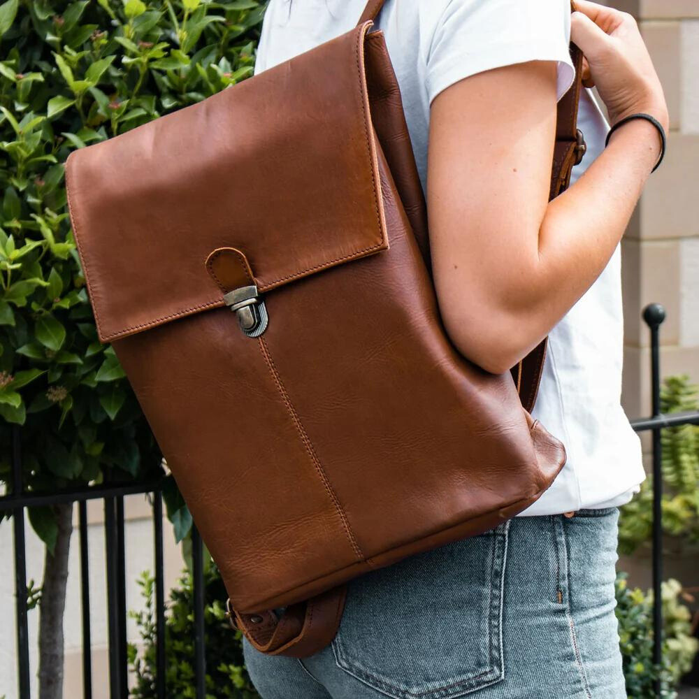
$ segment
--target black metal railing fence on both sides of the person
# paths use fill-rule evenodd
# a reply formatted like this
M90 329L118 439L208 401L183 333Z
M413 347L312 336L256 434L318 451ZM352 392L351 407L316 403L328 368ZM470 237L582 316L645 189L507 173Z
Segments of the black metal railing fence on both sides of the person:
M632 422L637 432L651 431L653 435L653 589L654 589L654 661L662 662L662 605L663 579L662 511L663 478L661 472L661 432L664 428L684 424L699 424L699 412L661 414L660 326L665 310L653 303L643 312L651 332L651 390L652 415ZM106 582L108 610L108 658L110 699L128 699L127 661L127 604L126 604L126 546L124 536L124 497L138 493L152 495L154 525L154 601L156 619L156 694L167 696L165 682L165 590L163 561L163 500L161 480L133 485L103 484L99 487L62 492L25 492L22 486L22 454L20 428L13 431L13 482L15 492L0 497L0 512L13 512L15 549L15 593L17 626L17 688L20 699L30 699L29 689L29 633L27 625L27 570L24 537L24 508L34 505L78 503L78 532L80 547L80 590L82 612L82 684L83 697L92 699L92 635L89 596L89 554L87 545L87 500L103 500L104 535L106 548ZM204 561L203 547L196 527L192 530L192 576L194 583L194 672L196 698L205 699L206 654L204 646ZM659 687L656 687L660 696Z

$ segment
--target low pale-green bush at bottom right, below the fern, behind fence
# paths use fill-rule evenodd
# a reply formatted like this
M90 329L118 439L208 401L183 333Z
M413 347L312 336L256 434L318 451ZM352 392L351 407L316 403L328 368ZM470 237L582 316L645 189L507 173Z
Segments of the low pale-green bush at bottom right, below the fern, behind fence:
M663 582L663 667L653 662L653 595L630 589L626 574L617 576L617 619L624 658L626 692L632 699L656 699L654 682L661 680L661 696L674 698L679 679L692 667L699 642L691 635L689 609L680 602L682 585Z

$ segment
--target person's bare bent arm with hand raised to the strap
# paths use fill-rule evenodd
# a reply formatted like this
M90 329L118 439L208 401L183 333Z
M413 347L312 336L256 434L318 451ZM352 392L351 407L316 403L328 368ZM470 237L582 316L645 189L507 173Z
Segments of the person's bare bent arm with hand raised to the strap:
M572 15L572 38L612 122L643 111L667 129L633 17L577 5L586 16ZM461 352L493 373L538 345L591 287L660 153L652 124L633 120L549 203L555 129L554 62L477 73L432 104L428 213L442 319Z

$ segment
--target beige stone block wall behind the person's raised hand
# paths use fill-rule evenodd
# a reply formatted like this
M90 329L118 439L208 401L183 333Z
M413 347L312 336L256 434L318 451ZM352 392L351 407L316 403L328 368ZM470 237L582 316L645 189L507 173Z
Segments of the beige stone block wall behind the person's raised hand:
M662 303L662 373L699 382L699 1L610 0L632 13L670 109L668 152L651 175L622 242L624 407L650 410L649 333L640 311Z

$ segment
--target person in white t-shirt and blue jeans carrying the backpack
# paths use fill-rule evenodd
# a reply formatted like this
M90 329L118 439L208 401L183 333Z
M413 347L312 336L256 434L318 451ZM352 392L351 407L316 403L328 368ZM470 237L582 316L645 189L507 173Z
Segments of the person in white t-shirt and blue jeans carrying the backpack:
M271 0L256 72L349 31L366 0ZM619 243L668 129L633 17L586 0L387 0L377 17L426 192L433 276L454 345L503 373L549 335L533 416L568 461L521 516L349 584L314 656L245 642L264 699L626 697L618 507L644 478L621 408ZM584 52L571 185L548 201L556 102ZM591 87L596 85L609 122ZM425 464L429 468L429 464ZM572 515L572 516L571 516Z

